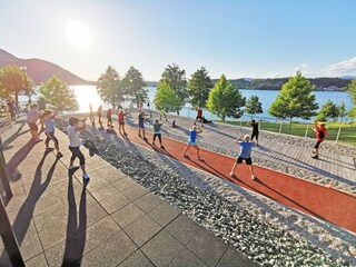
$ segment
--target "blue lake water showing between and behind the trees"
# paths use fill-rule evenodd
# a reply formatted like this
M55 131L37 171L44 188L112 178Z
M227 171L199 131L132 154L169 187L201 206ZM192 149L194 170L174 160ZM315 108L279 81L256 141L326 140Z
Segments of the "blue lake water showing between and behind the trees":
M75 86L71 87L75 90L75 93L77 96L77 100L79 102L79 111L89 111L89 102L92 103L93 109L96 110L100 105L103 106L103 108L109 108L110 106L103 103L96 90L96 87L93 86ZM147 87L148 89L148 98L150 103L150 109L155 110L155 93L156 93L156 87ZM273 103L273 101L276 99L279 91L276 90L250 90L250 89L240 89L241 93L246 99L248 99L250 96L255 95L259 98L259 101L263 103L263 110L264 112L258 115L258 119L264 120L270 120L271 117L268 115L268 107ZM349 110L353 107L352 100L347 92L342 91L315 91L316 101L318 102L319 107L322 107L327 100L333 100L336 105L339 105L342 102L345 103L346 110ZM20 97L19 100L27 101L26 97ZM125 102L123 107L129 107L129 102ZM147 102L144 103L144 108L148 108ZM189 108L189 105L185 107L180 111L181 116L191 117L194 118L196 116L196 111L191 110ZM218 119L216 116L211 115L209 111L205 110L204 116L207 119ZM244 115L243 119L248 119L250 116ZM297 120L297 119L296 119ZM299 120L301 121L301 120Z

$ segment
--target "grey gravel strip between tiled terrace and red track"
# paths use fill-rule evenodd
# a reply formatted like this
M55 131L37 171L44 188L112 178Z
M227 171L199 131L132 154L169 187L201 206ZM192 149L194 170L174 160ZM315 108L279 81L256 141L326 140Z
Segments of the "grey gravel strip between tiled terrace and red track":
M356 265L356 240L347 231L116 136L82 135L108 162L263 266Z

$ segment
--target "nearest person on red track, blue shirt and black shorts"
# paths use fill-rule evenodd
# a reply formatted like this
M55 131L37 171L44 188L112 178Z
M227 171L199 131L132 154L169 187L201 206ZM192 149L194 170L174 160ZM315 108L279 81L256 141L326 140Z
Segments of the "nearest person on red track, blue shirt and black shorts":
M241 139L244 137L244 139ZM243 164L243 161L245 160L246 165L248 165L249 170L251 172L251 179L255 180L256 177L254 175L254 168L253 168L253 159L251 159L251 151L253 151L253 147L255 146L255 142L250 141L249 139L249 135L241 135L238 138L236 138L235 142L237 142L238 145L240 145L241 149L240 149L240 154L238 156L238 158L236 159L236 162L233 166L230 176L234 177L234 171L237 165Z

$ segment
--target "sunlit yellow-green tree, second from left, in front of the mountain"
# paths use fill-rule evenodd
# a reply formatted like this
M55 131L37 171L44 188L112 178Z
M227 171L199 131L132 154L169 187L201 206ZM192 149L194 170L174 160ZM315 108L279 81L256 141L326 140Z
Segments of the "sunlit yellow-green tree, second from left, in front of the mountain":
M49 78L38 90L40 99L57 107L58 110L78 110L78 101L72 89L55 75Z

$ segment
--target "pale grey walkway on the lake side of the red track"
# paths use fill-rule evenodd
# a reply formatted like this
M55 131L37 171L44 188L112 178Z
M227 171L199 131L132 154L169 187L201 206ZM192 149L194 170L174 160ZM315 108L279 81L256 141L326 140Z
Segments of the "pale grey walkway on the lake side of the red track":
M154 112L152 119L157 118L159 118L159 115ZM187 139L188 129L191 127L194 119L175 115L168 115L168 119L169 121L165 125L164 130L172 135L184 136ZM178 127L168 127L174 119L177 121ZM135 122L137 121L136 112L132 112L131 120ZM200 126L199 122L198 126ZM222 149L235 150L235 155L237 155L238 150L238 147L235 144L236 137L241 132L251 132L250 127L238 127L219 122L205 123L202 130L204 132L198 137L199 142L212 145ZM264 137L260 137L260 146L254 149L254 159L259 159L260 161L269 160L285 166L295 166L301 170L312 171L348 185L356 184L356 166L354 162L356 152L353 157L348 157L339 154L325 152L322 147L320 160L315 160L312 159L314 140L310 140L309 138L305 139L266 131L261 131L261 135L268 135L269 138L264 139ZM288 141L285 140L286 138L288 138ZM293 139L293 144L289 141L290 139ZM310 146L303 146L304 142L310 142ZM270 166L264 167L271 168Z

